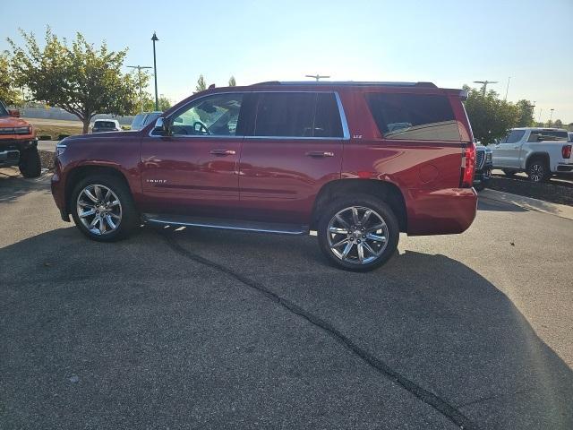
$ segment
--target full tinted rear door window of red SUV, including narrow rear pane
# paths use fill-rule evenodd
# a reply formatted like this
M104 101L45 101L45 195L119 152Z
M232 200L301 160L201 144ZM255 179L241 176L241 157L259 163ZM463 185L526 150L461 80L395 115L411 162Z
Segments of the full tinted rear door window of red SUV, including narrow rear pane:
M332 93L263 92L255 136L342 137L338 104Z

